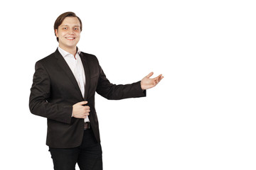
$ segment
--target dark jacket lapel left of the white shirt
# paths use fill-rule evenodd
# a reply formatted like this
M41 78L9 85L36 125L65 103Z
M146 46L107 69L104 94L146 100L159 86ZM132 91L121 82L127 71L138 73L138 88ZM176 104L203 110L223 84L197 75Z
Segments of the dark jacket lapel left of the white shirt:
M70 67L68 66L68 63L65 62L65 59L63 58L62 55L60 55L60 52L58 51L58 49L55 51L55 57L57 58L58 66L63 69L63 72L65 72L67 77L70 79L70 81L72 82L72 84L75 87L75 89L77 91L79 91L79 94L80 94L80 96L82 98L82 94L81 94L80 88L78 86L78 81L76 81L73 72L71 71Z

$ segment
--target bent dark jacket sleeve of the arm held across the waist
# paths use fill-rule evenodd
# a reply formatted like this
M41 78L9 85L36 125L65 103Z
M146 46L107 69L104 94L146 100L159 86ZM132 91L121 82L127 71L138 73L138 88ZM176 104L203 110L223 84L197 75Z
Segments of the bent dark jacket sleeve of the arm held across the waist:
M73 106L48 102L50 98L50 77L40 62L36 62L35 69L29 98L31 113L62 123L70 123Z

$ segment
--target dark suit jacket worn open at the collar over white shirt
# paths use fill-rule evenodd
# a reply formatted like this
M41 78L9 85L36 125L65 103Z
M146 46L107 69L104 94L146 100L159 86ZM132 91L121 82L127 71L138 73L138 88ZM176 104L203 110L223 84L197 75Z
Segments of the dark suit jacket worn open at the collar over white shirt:
M88 101L90 123L97 142L100 132L95 110L95 91L101 96L117 100L146 96L140 81L134 84L115 85L106 78L97 57L80 53L85 69L85 97L82 98L78 83L58 49L36 62L29 98L31 113L47 118L46 145L55 148L78 147L82 142L84 119L72 117L73 105Z

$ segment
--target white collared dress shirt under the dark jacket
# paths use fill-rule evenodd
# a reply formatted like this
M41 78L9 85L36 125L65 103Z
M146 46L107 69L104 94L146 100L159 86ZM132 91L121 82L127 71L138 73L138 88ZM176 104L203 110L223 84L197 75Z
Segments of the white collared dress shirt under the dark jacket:
M80 88L82 97L85 97L85 70L82 66L82 61L80 58L80 50L74 55L71 55L69 52L66 52L61 47L58 47L58 51L64 57L65 61L68 63L71 71L73 72L76 81L78 81L78 86ZM88 116L85 118L85 122L89 122Z

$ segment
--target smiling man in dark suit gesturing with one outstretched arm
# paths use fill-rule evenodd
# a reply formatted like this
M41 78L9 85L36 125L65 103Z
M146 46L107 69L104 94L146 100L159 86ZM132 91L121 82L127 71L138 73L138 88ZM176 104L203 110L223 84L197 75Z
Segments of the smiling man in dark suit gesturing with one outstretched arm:
M47 118L46 145L54 169L102 169L95 92L108 99L146 96L146 89L164 77L150 73L134 84L115 85L106 78L94 55L80 52L82 22L73 12L61 14L54 24L58 49L36 62L29 98L31 113Z

